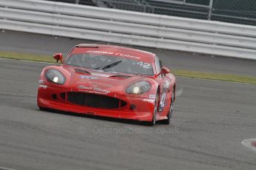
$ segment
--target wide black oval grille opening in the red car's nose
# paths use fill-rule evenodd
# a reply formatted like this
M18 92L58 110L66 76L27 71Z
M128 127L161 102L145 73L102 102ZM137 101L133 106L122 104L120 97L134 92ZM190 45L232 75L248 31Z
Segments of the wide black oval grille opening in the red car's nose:
M96 95L85 92L68 92L67 100L70 103L80 106L88 106L102 109L118 109L126 106L126 102L118 98L112 98L106 95Z

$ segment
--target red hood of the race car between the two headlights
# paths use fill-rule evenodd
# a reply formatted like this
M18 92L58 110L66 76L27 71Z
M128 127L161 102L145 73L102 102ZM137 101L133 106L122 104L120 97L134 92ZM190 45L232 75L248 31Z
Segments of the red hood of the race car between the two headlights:
M67 86L73 92L91 92L99 95L127 95L125 89L137 81L152 81L152 78L118 72L104 72L83 67L64 66L70 72Z

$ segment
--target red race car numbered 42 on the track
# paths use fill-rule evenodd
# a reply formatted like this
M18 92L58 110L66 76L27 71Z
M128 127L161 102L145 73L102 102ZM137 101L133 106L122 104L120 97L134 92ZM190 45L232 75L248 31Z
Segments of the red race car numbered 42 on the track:
M79 44L59 66L42 70L37 104L88 115L169 124L176 78L154 53L127 47Z

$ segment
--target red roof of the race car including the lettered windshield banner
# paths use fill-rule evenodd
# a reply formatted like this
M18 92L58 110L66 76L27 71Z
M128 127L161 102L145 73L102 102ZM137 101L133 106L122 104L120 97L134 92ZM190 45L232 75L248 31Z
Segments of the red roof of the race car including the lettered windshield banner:
M78 44L70 53L92 52L102 55L116 55L117 57L131 58L138 61L154 63L155 54L144 50L105 44Z

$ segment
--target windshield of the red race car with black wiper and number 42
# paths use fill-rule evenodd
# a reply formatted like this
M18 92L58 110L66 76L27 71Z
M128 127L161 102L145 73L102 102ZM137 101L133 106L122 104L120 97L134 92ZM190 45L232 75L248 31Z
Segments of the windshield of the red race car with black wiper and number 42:
M65 64L89 69L102 69L105 72L154 75L152 65L149 63L111 55L72 54L65 61Z

